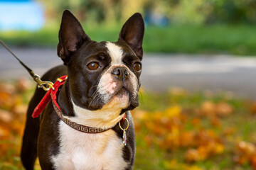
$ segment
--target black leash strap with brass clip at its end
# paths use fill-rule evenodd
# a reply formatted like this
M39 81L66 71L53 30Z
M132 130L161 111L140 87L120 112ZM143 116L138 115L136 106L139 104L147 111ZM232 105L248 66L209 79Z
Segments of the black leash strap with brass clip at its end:
M54 87L53 87L53 82L50 82L50 81L42 81L40 79L40 77L38 76L38 74L35 74L33 72L32 69L30 69L28 66L26 66L26 64L24 64L23 62L21 62L21 60L18 59L18 57L16 55L14 55L14 52L12 52L9 47L7 47L7 45L2 41L0 40L0 43L1 45L3 45L6 50L8 50L11 55L13 55L16 60L18 60L18 62L20 62L20 64L28 71L28 73L31 75L31 77L33 77L33 80L36 81L36 83L38 84L38 88L43 88L43 90L45 91L48 91L49 89L53 89L54 90Z

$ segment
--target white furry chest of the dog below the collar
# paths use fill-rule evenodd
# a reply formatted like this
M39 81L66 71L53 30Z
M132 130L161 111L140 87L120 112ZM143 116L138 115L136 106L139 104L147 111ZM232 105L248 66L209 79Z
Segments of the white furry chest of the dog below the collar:
M122 139L113 130L78 132L60 121L60 152L51 157L55 169L125 169Z

